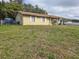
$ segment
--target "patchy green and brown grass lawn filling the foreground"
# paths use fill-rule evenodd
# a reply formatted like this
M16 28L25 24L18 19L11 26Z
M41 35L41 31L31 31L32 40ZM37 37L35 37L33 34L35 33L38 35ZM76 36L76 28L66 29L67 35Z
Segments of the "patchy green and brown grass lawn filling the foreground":
M0 59L79 59L79 26L0 26Z

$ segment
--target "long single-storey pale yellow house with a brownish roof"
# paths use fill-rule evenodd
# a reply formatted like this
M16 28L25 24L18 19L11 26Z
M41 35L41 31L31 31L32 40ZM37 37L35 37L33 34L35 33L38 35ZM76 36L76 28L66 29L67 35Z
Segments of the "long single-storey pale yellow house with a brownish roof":
M59 18L58 16L19 11L16 22L21 25L52 25Z

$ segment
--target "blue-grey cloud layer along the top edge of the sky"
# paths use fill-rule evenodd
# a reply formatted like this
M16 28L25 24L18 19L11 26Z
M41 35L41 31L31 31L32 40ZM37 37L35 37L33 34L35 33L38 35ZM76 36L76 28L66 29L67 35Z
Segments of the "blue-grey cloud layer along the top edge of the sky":
M26 0L28 1L28 0ZM79 0L29 0L29 2L34 4L45 4L48 6L62 6L62 7L73 7L79 6Z

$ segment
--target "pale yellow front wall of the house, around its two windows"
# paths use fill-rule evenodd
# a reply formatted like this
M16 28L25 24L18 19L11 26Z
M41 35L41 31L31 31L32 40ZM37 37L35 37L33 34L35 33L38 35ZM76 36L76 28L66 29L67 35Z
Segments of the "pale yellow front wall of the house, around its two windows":
M45 22L42 22L41 17L35 17L35 22L31 22L31 16L23 16L23 25L52 25L50 18L45 18Z

